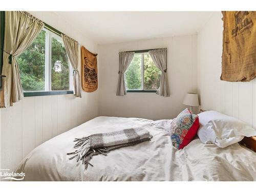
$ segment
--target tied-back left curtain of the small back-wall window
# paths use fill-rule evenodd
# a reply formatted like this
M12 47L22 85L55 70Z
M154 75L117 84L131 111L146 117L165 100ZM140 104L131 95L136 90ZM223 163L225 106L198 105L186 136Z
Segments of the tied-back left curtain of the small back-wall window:
M119 78L117 85L117 96L126 95L125 82L124 82L124 73L129 67L131 61L133 60L135 52L120 52L119 53Z

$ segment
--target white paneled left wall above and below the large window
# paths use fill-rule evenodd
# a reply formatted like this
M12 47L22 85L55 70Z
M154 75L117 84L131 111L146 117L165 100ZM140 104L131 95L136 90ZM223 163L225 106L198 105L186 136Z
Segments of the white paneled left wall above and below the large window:
M56 13L31 13L97 53L97 44ZM73 95L26 97L10 108L1 109L1 168L13 170L34 147L98 116L98 93L83 92L82 98Z

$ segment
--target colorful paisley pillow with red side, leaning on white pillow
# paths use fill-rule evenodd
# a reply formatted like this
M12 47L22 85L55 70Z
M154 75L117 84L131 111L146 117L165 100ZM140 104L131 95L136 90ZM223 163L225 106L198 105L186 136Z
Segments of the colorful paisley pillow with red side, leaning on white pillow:
M170 138L179 150L197 135L199 118L188 109L183 110L170 124Z

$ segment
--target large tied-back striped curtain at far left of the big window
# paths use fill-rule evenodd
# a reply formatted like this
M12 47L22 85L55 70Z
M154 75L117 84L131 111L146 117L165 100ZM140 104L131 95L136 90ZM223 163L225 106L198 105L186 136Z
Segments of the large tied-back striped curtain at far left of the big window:
M44 28L44 23L25 11L5 12L5 42L2 75L4 86L4 103L1 108L12 106L23 98L22 83L16 60Z

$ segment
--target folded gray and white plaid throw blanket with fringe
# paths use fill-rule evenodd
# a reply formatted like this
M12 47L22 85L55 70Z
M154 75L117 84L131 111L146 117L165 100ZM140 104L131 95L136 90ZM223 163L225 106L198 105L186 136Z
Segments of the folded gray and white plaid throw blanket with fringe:
M109 133L92 134L88 137L75 139L74 141L77 143L74 148L77 148L77 150L73 153L68 153L67 155L74 155L69 159L76 158L77 162L79 160L82 161L87 169L88 165L93 166L89 161L94 155L106 155L116 148L135 145L148 141L151 138L152 136L150 133L142 127Z

